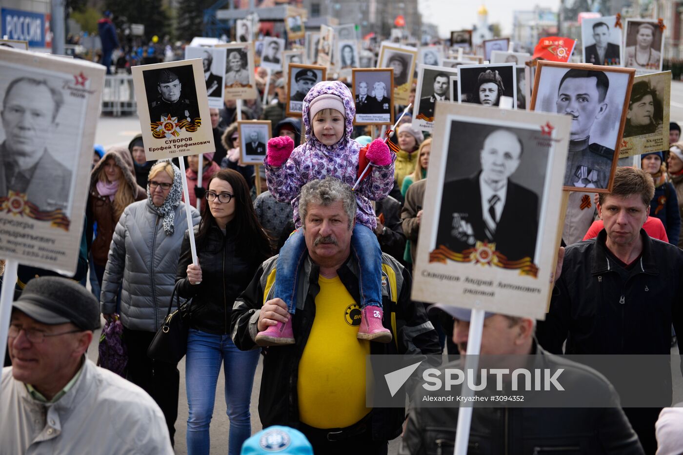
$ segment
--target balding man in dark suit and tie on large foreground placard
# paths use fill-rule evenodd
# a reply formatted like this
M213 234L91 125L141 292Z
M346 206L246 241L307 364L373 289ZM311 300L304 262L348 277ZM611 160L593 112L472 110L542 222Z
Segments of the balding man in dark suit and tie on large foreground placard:
M507 260L533 260L538 195L510 180L523 154L524 144L511 130L496 128L484 137L481 169L444 184L436 247L462 253L477 241L494 243Z

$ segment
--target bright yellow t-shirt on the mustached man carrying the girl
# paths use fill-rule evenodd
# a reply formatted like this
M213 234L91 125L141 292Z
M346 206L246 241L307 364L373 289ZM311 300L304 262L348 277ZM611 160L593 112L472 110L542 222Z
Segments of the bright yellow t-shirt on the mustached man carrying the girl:
M339 277L318 277L316 318L298 366L301 422L315 428L344 428L370 412L365 407L365 355L359 340L361 307Z

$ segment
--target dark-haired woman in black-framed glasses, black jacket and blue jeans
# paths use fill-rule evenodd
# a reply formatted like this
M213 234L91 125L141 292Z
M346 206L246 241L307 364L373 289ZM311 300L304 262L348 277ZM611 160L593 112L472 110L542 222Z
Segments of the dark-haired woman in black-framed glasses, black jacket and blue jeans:
M238 455L251 435L249 404L259 351L241 351L232 343L230 313L258 266L270 256L270 243L256 218L247 181L238 171L219 171L209 180L204 197L208 210L201 212L195 227L199 265L192 263L186 234L176 275L180 297L193 299L185 360L187 453L209 453L209 424L223 363L228 454Z

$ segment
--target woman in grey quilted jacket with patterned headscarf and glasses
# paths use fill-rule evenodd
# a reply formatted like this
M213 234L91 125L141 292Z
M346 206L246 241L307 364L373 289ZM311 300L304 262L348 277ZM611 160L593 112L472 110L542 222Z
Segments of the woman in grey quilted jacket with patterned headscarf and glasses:
M128 348L128 380L154 398L166 417L173 443L178 415L180 373L177 364L152 360L147 348L161 326L176 285L180 246L187 230L182 173L169 161L158 161L148 176L147 200L126 207L109 250L100 305L104 318L120 317ZM191 208L193 225L199 212Z

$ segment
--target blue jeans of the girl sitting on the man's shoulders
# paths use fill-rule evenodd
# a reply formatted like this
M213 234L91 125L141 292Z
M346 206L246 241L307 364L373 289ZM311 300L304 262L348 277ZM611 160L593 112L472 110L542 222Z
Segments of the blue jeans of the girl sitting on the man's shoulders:
M361 273L361 307L382 307L382 250L370 228L356 223L351 236L351 249ZM297 230L280 249L275 273L275 297L282 299L290 314L296 312L296 278L305 258L306 242L303 230Z

